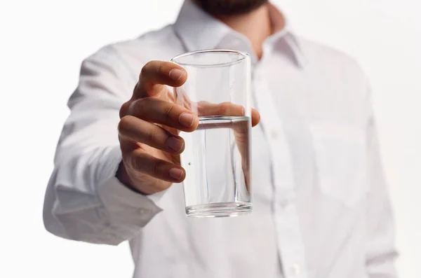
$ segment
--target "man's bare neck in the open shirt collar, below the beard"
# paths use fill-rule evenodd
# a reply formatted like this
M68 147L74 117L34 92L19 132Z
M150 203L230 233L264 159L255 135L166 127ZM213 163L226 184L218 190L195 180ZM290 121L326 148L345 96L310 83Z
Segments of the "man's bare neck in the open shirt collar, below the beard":
M262 5L244 15L215 15L236 32L243 34L250 41L255 55L262 57L262 44L272 34L272 23L267 5Z

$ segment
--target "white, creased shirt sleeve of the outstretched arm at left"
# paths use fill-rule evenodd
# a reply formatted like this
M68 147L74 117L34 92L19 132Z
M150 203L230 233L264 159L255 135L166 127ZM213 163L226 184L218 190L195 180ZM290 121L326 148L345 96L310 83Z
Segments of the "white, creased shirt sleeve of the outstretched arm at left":
M44 200L44 225L54 235L116 245L161 211L154 196L135 193L115 177L119 109L135 77L112 46L83 61Z

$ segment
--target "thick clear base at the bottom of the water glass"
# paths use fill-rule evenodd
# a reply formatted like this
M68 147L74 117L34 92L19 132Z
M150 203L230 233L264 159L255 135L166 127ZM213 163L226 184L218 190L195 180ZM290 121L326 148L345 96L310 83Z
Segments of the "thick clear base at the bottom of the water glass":
M218 202L186 207L187 216L194 218L233 217L250 214L251 211L253 204L249 202Z

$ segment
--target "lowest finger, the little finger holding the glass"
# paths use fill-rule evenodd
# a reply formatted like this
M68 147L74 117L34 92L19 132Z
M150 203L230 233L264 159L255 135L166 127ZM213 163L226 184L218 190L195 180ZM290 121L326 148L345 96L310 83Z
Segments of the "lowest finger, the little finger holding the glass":
M163 181L179 183L185 179L185 169L180 165L155 158L141 148L128 155L126 167Z

